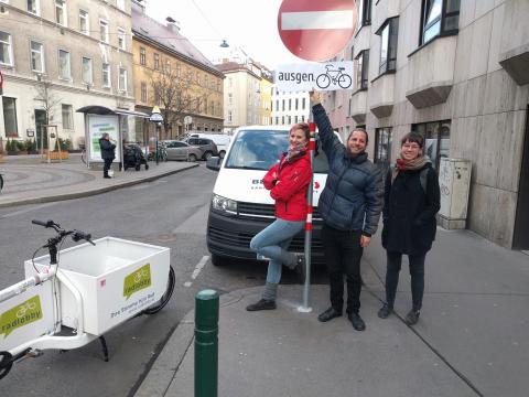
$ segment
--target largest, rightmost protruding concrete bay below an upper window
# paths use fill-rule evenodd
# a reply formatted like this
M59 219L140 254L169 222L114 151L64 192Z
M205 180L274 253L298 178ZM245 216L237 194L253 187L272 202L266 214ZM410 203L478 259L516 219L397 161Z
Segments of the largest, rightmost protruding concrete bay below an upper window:
M408 100L417 108L446 101L454 84L457 36L438 37L408 55Z

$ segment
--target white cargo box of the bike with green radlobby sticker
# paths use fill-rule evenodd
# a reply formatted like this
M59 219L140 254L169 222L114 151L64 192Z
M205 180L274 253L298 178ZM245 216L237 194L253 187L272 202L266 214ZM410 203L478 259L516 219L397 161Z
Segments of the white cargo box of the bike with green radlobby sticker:
M61 250L58 273L78 289L83 298L84 329L101 335L161 299L168 286L170 250L114 237ZM42 269L50 256L34 259ZM32 261L24 262L25 277L35 273ZM63 324L77 329L77 304L61 283Z

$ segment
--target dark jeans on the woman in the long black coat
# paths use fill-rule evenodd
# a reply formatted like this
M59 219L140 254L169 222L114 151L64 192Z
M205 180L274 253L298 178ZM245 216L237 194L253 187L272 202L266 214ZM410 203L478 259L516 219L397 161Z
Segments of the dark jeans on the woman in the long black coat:
M388 266L386 270L386 301L390 308L393 307L397 286L399 283L399 272L402 265L402 254L387 253ZM419 311L422 308L422 296L424 294L424 255L408 255L411 276L411 300L413 310Z

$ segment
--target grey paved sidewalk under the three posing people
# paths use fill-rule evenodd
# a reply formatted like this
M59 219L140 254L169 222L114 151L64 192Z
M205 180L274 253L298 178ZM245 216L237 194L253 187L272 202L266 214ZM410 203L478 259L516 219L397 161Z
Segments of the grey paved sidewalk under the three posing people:
M385 251L374 238L363 262L360 314L320 323L326 286L311 286L312 313L300 313L302 286L280 286L278 309L252 312L251 288L220 298L218 396L527 396L529 256L466 230L439 229L427 257L419 323L403 316L411 294L404 260L396 312L377 316ZM180 323L136 396L194 395L194 313Z

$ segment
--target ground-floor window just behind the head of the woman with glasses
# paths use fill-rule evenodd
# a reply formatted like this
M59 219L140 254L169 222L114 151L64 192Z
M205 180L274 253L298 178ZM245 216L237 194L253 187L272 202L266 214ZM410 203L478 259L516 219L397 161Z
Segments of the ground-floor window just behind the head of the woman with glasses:
M417 124L411 130L424 137L423 153L432 160L432 165L439 170L441 158L450 157L451 120Z

